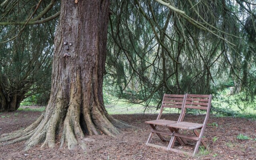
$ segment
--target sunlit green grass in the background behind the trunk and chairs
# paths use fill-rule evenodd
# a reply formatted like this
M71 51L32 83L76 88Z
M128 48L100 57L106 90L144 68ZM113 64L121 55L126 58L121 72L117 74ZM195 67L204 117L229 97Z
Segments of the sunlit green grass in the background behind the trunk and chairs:
M212 105L219 108L220 110L226 110L232 112L234 118L249 118L256 120L256 108L255 106L248 106L241 101L238 101L237 96L230 96L230 90L225 90L221 92L220 95L214 97L212 100ZM126 100L119 99L118 97L112 96L110 94L104 94L105 107L109 114L158 114L159 110L156 110L157 104L149 104L150 106L145 110L145 106L141 104L132 104L126 102ZM32 103L31 103L32 104ZM42 112L45 110L45 107L40 108L26 108L21 106L18 110L27 110L27 111L39 111ZM166 108L163 113L180 113L178 109ZM204 114L204 113L203 113ZM215 116L230 116L222 113L214 113ZM218 127L217 123L208 124L213 127Z

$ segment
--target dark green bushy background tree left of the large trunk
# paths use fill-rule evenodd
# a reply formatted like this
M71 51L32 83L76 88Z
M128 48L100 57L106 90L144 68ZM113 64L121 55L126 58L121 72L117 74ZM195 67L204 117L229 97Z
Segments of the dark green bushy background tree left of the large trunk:
M16 28L4 27L1 40L12 38L15 31L7 33ZM0 112L15 111L25 98L50 90L54 28L29 26L19 38L0 44Z

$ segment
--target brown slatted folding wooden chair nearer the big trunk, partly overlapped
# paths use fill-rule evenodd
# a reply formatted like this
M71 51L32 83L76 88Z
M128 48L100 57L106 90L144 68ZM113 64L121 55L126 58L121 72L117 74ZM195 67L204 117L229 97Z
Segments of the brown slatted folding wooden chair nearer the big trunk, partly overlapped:
M176 95L176 94L164 94L163 100L162 100L162 105L160 108L160 113L158 114L158 117L156 118L156 120L151 120L151 121L146 121L145 123L150 124L152 130L150 131L150 135L148 137L148 141L146 142L146 145L148 146L152 146L155 148L164 148L164 149L168 149L168 147L164 147L164 146L160 146L160 145L156 145L156 144L152 144L150 143L152 136L154 133L156 133L158 135L158 137L162 140L162 141L166 141L161 134L165 134L165 135L169 135L172 136L173 135L173 130L171 127L168 127L170 131L162 131L162 130L157 130L156 126L166 126L168 124L174 124L177 122L181 122L182 121L182 108L184 106L184 102L185 102L185 98L186 95ZM180 108L181 112L180 112L180 116L178 118L177 121L173 121L173 120L163 120L160 119L162 116L162 112L164 110L164 108ZM183 138L177 138L178 142L180 144L186 143L186 141L182 141Z

